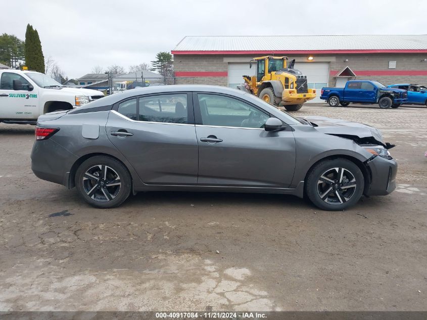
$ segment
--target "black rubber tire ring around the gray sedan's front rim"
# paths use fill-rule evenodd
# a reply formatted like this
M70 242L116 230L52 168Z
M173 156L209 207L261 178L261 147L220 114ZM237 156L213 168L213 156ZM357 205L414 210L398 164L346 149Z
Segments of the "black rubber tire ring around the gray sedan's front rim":
M328 204L324 202L320 198L317 192L317 181L319 180L320 175L326 170L335 168L335 167L341 167L349 170L356 178L356 184L357 184L356 191L354 195L350 198L350 200L339 205ZM338 158L338 159L321 160L307 174L305 189L306 189L306 194L308 198L316 207L323 210L329 210L329 211L344 210L348 207L353 206L359 201L360 197L363 194L364 177L360 168L354 162L348 159Z

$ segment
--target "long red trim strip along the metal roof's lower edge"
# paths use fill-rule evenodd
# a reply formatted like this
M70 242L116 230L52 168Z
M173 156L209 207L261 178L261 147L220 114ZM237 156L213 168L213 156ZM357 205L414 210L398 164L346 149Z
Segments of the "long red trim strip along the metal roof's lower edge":
M427 53L427 49L410 50L252 50L252 51L179 51L173 50L173 55L287 55L287 54L372 54L372 53Z

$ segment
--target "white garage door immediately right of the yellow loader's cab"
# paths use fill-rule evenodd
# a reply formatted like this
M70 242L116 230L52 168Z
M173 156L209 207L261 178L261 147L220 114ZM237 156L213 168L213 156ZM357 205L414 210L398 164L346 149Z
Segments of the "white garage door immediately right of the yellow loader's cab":
M329 80L329 63L328 62L296 62L295 69L300 70L307 76L309 88L316 89L316 98L310 102L323 102L320 100L320 89L327 86Z

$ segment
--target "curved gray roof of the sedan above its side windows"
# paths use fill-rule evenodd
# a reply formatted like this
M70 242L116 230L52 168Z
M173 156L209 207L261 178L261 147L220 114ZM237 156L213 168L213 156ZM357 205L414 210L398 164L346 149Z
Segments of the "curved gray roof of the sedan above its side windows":
M246 94L246 92L242 90L232 89L232 88L219 86L219 85L204 85L204 84L156 85L156 86L148 86L144 88L134 88L130 90L125 90L114 95L110 95L98 100L94 100L76 109L82 110L82 109L111 106L124 99L142 96L142 95L159 94L159 93L167 94L172 92L192 92L192 91L213 92L213 93L220 93L220 94L229 94L233 96Z

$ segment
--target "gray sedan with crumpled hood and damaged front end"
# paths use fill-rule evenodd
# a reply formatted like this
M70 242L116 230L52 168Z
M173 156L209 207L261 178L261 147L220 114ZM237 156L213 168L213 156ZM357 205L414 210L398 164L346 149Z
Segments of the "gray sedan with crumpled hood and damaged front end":
M150 86L38 118L32 170L110 208L139 191L307 196L343 210L395 189L379 130L298 118L240 90Z

